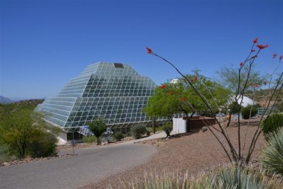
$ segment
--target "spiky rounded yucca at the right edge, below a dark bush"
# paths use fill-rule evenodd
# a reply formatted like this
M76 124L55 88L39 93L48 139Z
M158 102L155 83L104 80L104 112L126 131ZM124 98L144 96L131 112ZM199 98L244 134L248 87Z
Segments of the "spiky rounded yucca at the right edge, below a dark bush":
M260 163L267 171L283 176L283 127L266 136L268 142L262 149Z

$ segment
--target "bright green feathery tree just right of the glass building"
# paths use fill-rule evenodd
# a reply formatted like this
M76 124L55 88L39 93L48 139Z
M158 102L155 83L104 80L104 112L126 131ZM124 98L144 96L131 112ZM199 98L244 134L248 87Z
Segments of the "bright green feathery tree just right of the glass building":
M195 88L206 97L207 103L212 105L214 113L218 112L219 105L224 105L229 98L229 90L205 76L193 71L186 75ZM190 102L190 105L187 103ZM185 113L190 118L196 113L207 115L207 107L195 90L183 79L176 79L173 83L165 83L154 91L154 95L144 108L144 112L151 117L163 116L170 120L176 113ZM190 125L190 118L188 127Z

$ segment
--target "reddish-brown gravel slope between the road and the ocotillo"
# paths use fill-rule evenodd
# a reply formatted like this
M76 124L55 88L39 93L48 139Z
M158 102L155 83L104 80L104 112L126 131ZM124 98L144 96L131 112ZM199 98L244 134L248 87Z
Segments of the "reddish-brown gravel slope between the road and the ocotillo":
M244 139L246 130L246 143L250 142L256 128L256 120L250 122L250 126L241 126L241 138ZM229 127L229 137L233 144L237 143L238 127ZM221 139L224 141L224 139ZM216 141L212 132L195 132L185 134L182 137L173 137L171 139L154 139L150 141L143 141L140 143L152 144L158 147L158 152L151 156L151 159L144 164L131 168L115 176L100 181L99 183L91 183L83 188L119 188L117 185L121 181L125 183L131 182L133 179L144 178L144 173L158 172L164 170L177 171L185 173L188 172L189 176L194 176L203 171L211 171L212 168L229 162L224 150ZM258 159L260 149L265 144L265 139L261 135L258 139L252 159ZM248 144L246 144L247 149Z

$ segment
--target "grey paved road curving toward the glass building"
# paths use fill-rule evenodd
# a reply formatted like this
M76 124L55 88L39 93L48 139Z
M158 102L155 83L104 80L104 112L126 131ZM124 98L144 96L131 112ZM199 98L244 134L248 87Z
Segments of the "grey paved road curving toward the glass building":
M144 144L75 151L78 156L0 167L0 188L78 188L143 163L156 152ZM71 153L71 151L69 151Z

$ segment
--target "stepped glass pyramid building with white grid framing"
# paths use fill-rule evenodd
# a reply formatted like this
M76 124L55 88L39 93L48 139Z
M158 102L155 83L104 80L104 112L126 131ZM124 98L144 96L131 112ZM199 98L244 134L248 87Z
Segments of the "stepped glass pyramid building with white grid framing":
M47 98L35 110L66 132L98 118L103 118L111 129L150 124L152 120L142 109L155 88L154 81L129 64L98 62L88 65L56 97Z

